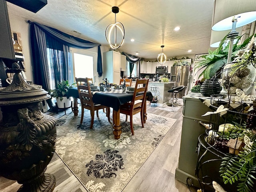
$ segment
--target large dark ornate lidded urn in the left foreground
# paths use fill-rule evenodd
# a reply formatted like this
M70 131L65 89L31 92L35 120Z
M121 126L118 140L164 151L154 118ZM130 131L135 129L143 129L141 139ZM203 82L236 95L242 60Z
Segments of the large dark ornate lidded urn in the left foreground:
M19 192L52 192L56 179L44 172L55 151L56 120L39 107L51 96L12 68L12 83L0 90L0 175L22 184Z

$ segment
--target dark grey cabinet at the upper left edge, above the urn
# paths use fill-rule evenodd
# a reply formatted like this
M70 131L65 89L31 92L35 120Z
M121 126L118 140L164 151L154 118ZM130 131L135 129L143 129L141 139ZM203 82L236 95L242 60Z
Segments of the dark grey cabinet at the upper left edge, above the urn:
M0 58L15 59L12 34L5 0L0 0Z

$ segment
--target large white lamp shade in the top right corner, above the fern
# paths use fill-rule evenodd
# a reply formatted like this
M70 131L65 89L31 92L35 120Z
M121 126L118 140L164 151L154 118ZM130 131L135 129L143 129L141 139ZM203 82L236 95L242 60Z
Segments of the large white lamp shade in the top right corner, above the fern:
M212 16L212 30L232 29L232 18L237 19L236 27L241 27L256 20L255 0L215 0Z

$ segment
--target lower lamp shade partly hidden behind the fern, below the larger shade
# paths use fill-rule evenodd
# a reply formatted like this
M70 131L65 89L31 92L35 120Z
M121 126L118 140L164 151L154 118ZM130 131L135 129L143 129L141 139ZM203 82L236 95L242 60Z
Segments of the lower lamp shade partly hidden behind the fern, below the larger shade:
M242 34L243 27L236 28L236 31L239 33L238 36ZM214 31L211 32L211 39L210 39L210 47L218 47L220 41L230 32L230 30L225 31ZM234 40L234 44L236 40Z

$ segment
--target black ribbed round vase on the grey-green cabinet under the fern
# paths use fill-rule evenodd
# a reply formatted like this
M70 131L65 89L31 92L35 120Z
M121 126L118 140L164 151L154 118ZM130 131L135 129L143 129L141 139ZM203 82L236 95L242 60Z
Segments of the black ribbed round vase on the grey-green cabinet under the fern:
M222 88L218 82L218 79L205 79L200 87L200 93L205 97L219 94L221 90Z

